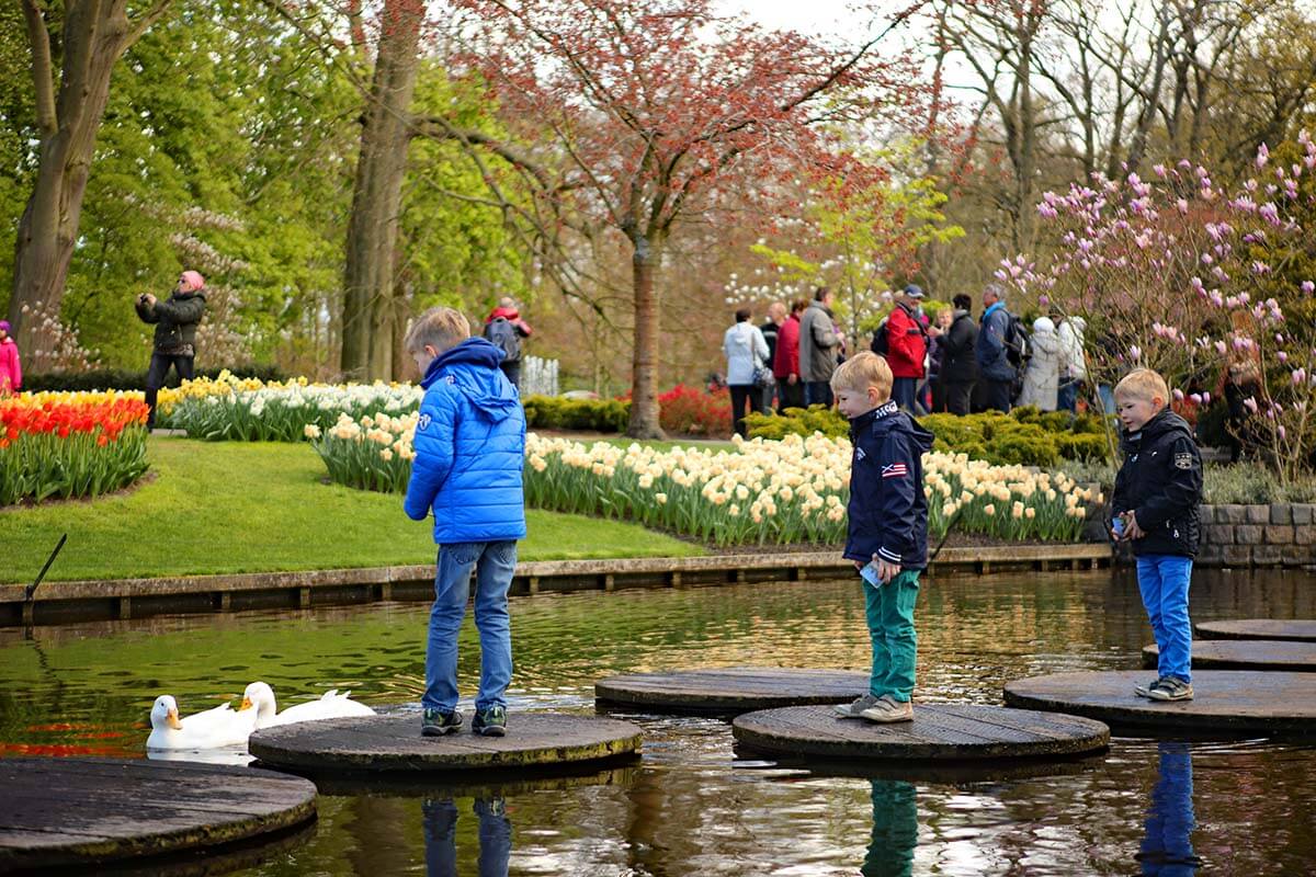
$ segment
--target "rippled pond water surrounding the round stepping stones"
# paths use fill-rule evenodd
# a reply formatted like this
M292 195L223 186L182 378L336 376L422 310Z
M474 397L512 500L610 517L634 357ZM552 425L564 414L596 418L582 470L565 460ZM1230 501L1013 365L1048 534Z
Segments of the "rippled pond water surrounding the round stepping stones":
M288 703L341 688L415 706L426 613L379 604L4 630L0 755L142 756L157 694L188 714L255 678ZM1199 572L1192 614L1313 618L1316 576ZM1126 572L930 580L917 618L916 702L1000 703L1011 678L1138 667L1150 640ZM471 693L474 628L462 636ZM592 684L609 673L863 669L869 655L858 580L521 598L513 647L513 732L517 710L592 711ZM1305 743L1116 738L1101 757L1036 776L825 776L737 756L719 719L620 715L645 730L630 767L479 788L324 786L313 830L232 873L1296 874L1316 860Z

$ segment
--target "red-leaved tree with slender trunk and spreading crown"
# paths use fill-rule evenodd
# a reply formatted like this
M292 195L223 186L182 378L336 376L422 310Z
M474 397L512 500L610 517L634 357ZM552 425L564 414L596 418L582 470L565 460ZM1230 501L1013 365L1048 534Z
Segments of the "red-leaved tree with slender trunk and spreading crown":
M766 32L719 17L712 0L455 0L458 64L483 78L511 137L437 113L424 133L462 142L474 160L509 162L538 193L500 199L553 254L621 235L634 298L630 426L661 437L659 289L678 220L771 222L799 212L792 179L871 179L845 146L867 130L908 130L929 88L904 53L876 46L913 12L874 12L850 45ZM854 142L850 139L850 142ZM880 168L878 168L880 172Z

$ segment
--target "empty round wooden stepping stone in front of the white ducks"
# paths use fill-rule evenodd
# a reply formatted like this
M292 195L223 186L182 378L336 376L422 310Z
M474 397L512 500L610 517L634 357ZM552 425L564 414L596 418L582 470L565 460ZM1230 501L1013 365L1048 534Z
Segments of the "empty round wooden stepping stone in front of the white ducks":
M183 761L4 759L0 789L0 873L95 873L112 861L284 838L316 815L308 780Z

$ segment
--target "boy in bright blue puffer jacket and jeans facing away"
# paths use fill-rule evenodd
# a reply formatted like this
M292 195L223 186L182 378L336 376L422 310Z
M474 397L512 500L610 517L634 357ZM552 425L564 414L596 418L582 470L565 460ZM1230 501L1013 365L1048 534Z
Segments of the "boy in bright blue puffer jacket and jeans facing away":
M416 422L416 459L404 509L424 521L434 509L434 607L425 651L421 734L462 727L457 711L457 634L466 615L475 569L475 627L480 635L480 688L471 730L507 734L512 634L507 592L516 569L516 540L525 538L521 471L525 413L499 368L503 351L471 338L466 317L432 308L407 333L407 351L425 376Z

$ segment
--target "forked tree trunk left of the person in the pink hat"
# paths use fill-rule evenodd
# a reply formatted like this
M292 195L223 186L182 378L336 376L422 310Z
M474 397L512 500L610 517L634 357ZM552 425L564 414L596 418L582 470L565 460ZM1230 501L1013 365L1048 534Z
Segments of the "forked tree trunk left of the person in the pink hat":
M109 101L111 74L137 36L129 33L125 7L126 0L66 4L55 99L50 36L36 4L24 3L41 158L36 185L18 221L9 323L33 372L49 368L54 352L55 335L41 329L39 317L59 317L96 133Z

